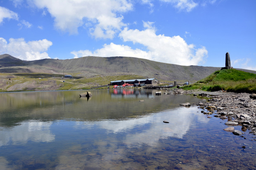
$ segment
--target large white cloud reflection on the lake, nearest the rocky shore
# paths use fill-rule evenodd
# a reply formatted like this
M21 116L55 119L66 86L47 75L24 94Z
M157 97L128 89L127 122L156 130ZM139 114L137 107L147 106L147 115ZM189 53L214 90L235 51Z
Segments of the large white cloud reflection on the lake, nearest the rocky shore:
M106 130L107 133L122 134L123 142L128 147L144 144L156 146L160 139L183 138L196 122L207 123L209 121L204 115L197 114L197 111L196 107L178 108L133 119L76 122L75 128L91 129L97 126ZM168 120L170 123L165 124L163 120Z

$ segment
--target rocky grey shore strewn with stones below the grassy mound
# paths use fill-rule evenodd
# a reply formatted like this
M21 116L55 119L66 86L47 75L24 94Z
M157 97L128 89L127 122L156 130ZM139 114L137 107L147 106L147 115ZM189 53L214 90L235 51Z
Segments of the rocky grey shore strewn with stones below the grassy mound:
M175 90L175 93L194 94L208 97L208 101L198 103L202 113L225 119L227 128L234 135L242 136L244 131L256 135L256 99L255 95L234 92L203 92ZM251 95L251 97L250 97ZM255 97L254 97L255 96ZM253 99L254 98L254 99ZM241 131L232 126L241 126Z

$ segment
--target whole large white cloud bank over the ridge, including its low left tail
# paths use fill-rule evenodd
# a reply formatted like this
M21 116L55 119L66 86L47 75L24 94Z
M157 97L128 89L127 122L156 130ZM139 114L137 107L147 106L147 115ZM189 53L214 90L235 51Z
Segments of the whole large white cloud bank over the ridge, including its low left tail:
M104 44L103 48L94 52L81 50L72 51L71 53L75 58L88 55L100 57L126 56L179 65L198 65L203 62L208 53L204 46L195 48L193 44L187 44L180 36L166 37L161 34L156 35L154 29L139 31L125 28L119 36L123 41L132 41L134 44L144 45L147 51L110 43L109 45Z

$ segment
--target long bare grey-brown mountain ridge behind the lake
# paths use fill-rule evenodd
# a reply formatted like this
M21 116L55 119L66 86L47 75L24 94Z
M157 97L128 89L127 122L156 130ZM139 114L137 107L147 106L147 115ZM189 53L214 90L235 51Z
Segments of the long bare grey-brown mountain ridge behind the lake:
M224 63L223 63L224 65ZM220 67L183 66L136 57L95 57L24 61L8 54L0 55L1 73L52 73L80 77L139 75L159 80L201 80ZM256 74L256 71L239 69Z

